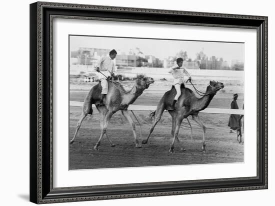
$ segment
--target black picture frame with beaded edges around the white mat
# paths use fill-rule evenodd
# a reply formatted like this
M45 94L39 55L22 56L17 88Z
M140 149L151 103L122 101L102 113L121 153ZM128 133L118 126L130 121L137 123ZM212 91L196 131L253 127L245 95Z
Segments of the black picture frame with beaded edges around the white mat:
M257 175L80 187L52 187L52 19L182 24L257 33ZM267 188L267 17L37 2L30 4L30 201L69 202Z

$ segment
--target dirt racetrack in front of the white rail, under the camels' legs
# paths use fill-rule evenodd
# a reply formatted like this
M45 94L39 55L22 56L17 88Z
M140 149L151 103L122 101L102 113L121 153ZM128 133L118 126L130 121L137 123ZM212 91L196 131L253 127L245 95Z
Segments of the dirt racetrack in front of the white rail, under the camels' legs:
M78 112L77 112L78 111ZM70 137L72 138L80 108L70 108ZM146 112L148 113L148 112ZM149 131L148 115L138 112L139 119L143 118L142 136L146 137ZM69 168L91 169L108 167L136 167L155 165L178 164L205 164L205 163L231 163L243 162L243 144L236 141L236 134L228 133L227 127L221 127L210 120L213 118L221 125L226 123L228 115L200 114L201 120L206 126L206 152L201 151L202 131L191 120L193 127L193 140L190 139L190 129L184 120L180 132L180 144L175 144L175 153L168 152L172 141L170 134L170 116L164 113L162 120L155 127L148 144L142 148L134 147L134 140L130 125L123 119L120 113L114 114L107 128L107 134L116 145L110 147L103 137L99 150L95 151L95 145L100 134L99 115L97 111L92 117L87 117L78 131L75 142L69 145ZM223 118L221 118L223 116ZM141 118L140 118L141 117ZM147 119L146 119L147 118ZM148 121L145 124L144 121ZM139 137L139 127L136 127ZM141 142L141 141L140 141ZM183 146L186 151L181 151Z

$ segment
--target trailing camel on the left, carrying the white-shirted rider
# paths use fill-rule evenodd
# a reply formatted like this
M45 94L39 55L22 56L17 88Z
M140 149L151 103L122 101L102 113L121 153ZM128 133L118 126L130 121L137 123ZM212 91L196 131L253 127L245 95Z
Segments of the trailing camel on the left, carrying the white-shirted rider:
M98 83L97 85L93 86L87 96L85 97L82 114L77 122L76 131L74 133L73 138L70 140L70 144L73 143L75 140L77 131L79 130L82 121L88 114L92 114L92 104L95 104L96 109L100 113L100 127L101 127L101 134L99 136L98 141L96 142L95 146L93 147L95 150L98 150L98 146L100 145L100 141L105 134L107 140L110 143L110 146L115 146L111 140L109 139L106 128L111 116L116 113L118 110L121 110L122 115L128 120L132 127L135 147L140 148L141 145L136 138L135 133L135 124L133 123L130 114L127 110L128 106L132 104L138 96L142 94L142 92L149 87L150 84L154 83L154 80L151 77L145 77L144 75L138 75L133 87L130 91L124 90L124 88L118 83L113 81L108 81L108 93L103 100L102 106L99 106L100 102L100 93L102 90L101 84Z

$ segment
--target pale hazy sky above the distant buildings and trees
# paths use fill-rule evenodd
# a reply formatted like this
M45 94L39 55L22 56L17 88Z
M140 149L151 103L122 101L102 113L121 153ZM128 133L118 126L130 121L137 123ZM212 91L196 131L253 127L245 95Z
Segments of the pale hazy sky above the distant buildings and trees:
M195 59L195 54L203 49L208 58L215 56L229 63L231 60L244 59L243 43L70 36L70 51L75 51L79 47L115 49L125 53L138 47L144 55L152 55L159 59L175 56L183 50L187 51L188 58L192 60Z

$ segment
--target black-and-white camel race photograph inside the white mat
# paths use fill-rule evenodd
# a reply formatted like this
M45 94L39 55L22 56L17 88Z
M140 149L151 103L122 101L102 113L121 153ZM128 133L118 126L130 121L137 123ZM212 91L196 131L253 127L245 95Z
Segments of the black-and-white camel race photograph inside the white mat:
M244 162L244 43L70 34L69 170Z

